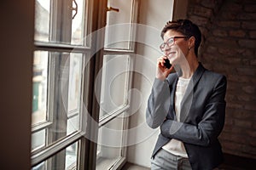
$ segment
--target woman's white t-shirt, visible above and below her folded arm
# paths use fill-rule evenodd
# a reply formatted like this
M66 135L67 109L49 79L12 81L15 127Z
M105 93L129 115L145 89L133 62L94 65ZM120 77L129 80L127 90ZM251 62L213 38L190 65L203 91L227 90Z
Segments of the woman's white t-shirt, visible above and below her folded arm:
M183 100L183 96L189 85L189 79L179 77L177 80L177 87L175 92L175 111L177 116L177 121L180 122L180 104ZM184 148L183 142L177 139L171 139L167 144L162 147L164 150L172 153L176 156L182 156L188 158L188 154Z

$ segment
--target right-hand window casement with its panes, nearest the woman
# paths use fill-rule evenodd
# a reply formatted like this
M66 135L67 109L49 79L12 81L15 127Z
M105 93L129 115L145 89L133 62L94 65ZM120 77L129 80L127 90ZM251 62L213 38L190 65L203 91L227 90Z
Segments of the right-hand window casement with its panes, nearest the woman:
M135 54L137 0L108 0L101 82L96 169L115 169L125 161L127 111L130 108ZM117 9L119 12L117 12ZM97 83L96 82L96 83Z

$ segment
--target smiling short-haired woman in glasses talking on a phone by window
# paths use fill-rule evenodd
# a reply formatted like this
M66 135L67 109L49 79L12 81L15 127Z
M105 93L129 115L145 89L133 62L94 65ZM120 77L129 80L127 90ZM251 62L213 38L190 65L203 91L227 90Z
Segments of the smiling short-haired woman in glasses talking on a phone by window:
M160 127L151 169L217 168L223 161L218 135L224 127L226 78L198 61L201 31L190 20L167 22L161 37L165 55L157 60L146 111L148 126Z

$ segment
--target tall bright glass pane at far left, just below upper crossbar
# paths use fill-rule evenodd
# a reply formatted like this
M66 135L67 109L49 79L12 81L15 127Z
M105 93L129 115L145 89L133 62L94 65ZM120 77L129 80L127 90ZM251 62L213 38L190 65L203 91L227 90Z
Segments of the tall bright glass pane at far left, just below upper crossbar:
M46 121L48 52L37 51L33 61L32 125Z

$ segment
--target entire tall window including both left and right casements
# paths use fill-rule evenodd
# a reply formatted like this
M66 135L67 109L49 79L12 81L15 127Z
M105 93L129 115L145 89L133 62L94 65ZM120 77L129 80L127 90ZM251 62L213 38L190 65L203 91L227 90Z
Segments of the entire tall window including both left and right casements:
M89 160L92 168L116 169L125 162L138 1L108 0L119 13L107 15L93 13L107 0L35 1L32 169L86 169ZM98 20L108 23L103 34ZM95 55L99 44L103 53ZM90 130L92 142L84 135Z

